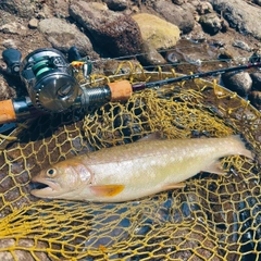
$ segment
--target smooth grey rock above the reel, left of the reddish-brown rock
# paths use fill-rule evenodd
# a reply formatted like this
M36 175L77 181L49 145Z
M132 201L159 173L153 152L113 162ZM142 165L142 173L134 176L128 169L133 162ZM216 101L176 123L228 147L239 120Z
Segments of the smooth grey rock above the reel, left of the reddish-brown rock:
M80 55L94 52L89 38L79 32L75 25L59 18L47 18L40 21L38 26L53 48L67 52L72 46L75 46Z

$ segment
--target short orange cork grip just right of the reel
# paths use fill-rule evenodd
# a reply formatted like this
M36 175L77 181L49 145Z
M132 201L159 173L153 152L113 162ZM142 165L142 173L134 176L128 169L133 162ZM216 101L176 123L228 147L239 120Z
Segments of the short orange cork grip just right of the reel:
M128 80L109 83L111 89L111 101L124 101L133 95L133 87Z

